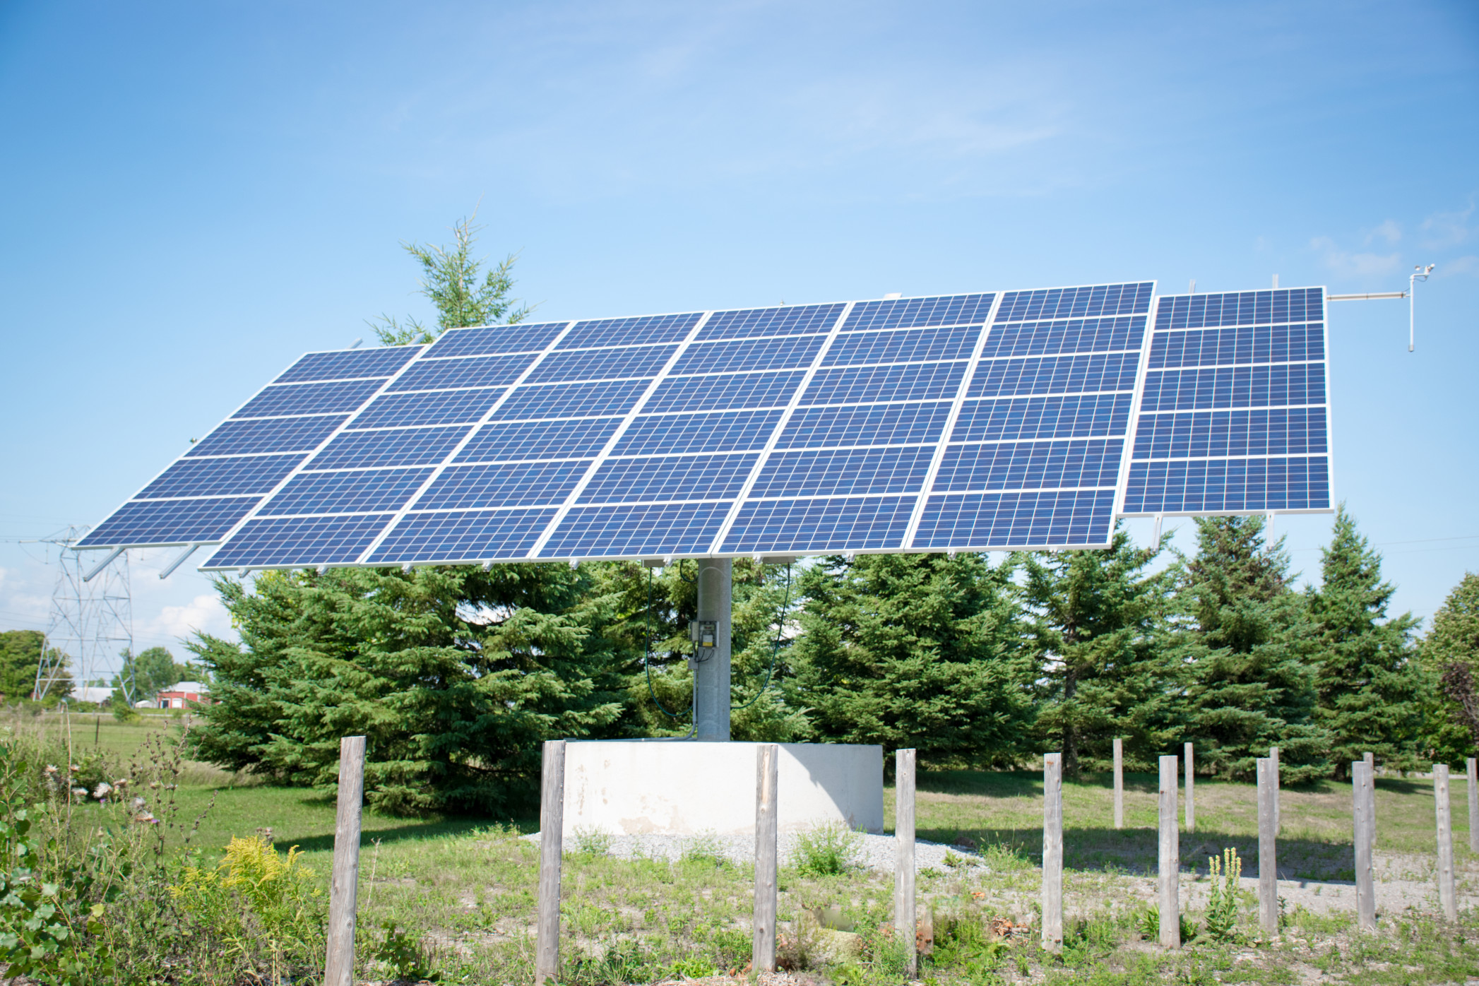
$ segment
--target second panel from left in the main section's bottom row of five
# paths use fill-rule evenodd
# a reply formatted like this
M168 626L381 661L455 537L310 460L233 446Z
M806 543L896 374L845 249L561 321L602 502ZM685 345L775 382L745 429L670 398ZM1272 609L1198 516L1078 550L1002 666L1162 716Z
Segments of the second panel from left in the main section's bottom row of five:
M370 554L370 565L522 559L555 510L408 513Z

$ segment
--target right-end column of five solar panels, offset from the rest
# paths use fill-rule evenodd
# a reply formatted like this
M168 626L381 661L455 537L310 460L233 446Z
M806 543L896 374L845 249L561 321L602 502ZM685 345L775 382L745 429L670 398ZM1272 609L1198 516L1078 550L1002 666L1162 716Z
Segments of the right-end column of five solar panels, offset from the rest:
M1325 294L1157 299L1121 513L1327 511Z

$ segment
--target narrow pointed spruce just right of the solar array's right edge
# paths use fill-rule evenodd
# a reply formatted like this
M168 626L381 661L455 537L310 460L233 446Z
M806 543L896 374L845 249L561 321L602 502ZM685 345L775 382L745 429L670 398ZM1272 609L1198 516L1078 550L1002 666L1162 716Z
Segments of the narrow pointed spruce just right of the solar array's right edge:
M1322 551L1322 584L1309 593L1319 665L1315 721L1330 735L1328 757L1338 779L1371 751L1386 763L1408 764L1421 710L1411 642L1412 613L1386 618L1395 591L1381 581L1381 556L1356 531L1340 504L1330 547Z

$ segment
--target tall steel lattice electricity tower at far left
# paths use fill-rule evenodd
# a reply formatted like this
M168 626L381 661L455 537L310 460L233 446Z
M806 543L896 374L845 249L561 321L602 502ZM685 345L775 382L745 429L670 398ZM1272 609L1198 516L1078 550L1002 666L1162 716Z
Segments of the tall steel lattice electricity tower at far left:
M52 615L41 645L41 661L35 668L35 690L40 701L47 692L65 686L68 665L72 681L86 687L95 677L105 676L114 659L124 650L133 653L133 594L129 587L129 553L124 551L87 578L84 556L72 545L87 532L71 525L40 543L56 548L59 572L52 590ZM132 662L129 668L132 670ZM132 705L133 676L123 680L123 693Z

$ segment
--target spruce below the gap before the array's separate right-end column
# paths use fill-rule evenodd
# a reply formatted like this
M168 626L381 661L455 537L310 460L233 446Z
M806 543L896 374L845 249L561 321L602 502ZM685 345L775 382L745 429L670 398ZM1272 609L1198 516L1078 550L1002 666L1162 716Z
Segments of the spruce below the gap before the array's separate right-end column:
M1145 574L1158 554L1117 526L1108 550L1021 556L1037 736L1062 751L1065 773L1108 769L1115 736L1140 769L1176 741L1177 681L1161 646L1174 572Z

